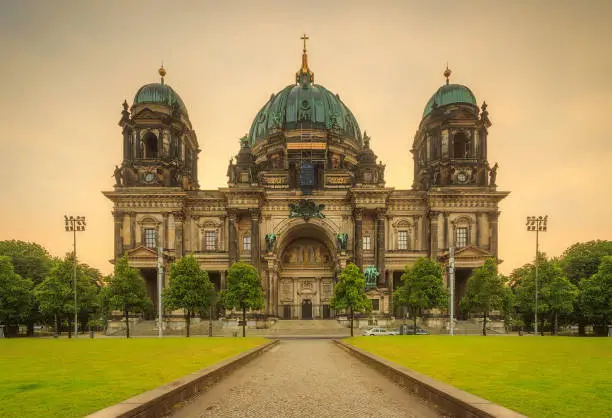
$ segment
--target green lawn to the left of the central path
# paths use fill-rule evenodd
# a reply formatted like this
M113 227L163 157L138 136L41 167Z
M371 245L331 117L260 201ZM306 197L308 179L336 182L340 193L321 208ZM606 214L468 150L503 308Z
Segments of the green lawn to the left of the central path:
M265 341L263 338L0 340L0 417L83 416Z

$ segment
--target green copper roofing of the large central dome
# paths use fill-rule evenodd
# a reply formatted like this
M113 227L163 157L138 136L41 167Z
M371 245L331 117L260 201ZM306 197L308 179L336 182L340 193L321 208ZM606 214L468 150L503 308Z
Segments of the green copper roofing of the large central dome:
M266 138L275 129L336 129L341 135L361 142L361 131L348 107L325 87L304 77L285 87L257 113L249 142Z

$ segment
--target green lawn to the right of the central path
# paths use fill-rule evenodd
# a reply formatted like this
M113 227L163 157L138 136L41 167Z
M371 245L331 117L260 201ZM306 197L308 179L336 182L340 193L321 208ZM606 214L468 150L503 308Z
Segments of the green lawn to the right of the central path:
M530 417L612 417L612 338L409 335L347 342Z

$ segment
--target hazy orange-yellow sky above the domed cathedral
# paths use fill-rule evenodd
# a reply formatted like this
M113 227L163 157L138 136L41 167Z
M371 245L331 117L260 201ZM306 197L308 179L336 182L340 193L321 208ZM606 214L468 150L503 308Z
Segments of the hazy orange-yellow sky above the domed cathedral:
M583 5L588 5L584 7ZM310 36L315 82L339 93L410 188L423 107L451 80L489 104L499 162L502 271L529 262L527 215L549 215L542 250L612 239L610 1L0 0L0 240L71 250L64 214L87 217L77 250L109 273L121 103L166 81L183 98L202 153L202 188L226 184L238 138L294 80Z

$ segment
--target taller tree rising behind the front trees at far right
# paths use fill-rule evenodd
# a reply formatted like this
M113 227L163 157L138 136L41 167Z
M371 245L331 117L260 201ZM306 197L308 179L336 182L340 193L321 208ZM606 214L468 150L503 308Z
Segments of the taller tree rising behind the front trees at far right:
M596 240L576 243L563 253L561 267L572 284L579 286L581 280L588 279L597 273L602 258L608 255L612 255L612 241ZM582 311L581 298L574 303L572 318L574 323L578 323L580 335L584 335L589 319Z

